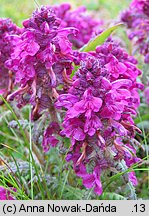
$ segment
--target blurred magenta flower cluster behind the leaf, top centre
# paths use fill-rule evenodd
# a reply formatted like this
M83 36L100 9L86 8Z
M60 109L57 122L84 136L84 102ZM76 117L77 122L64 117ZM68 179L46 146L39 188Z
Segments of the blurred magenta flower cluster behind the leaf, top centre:
M86 12L86 7L81 6L76 10L71 10L71 5L64 3L53 7L57 16L62 20L62 27L75 27L79 30L76 37L69 36L75 48L84 46L99 31L103 21L95 20Z

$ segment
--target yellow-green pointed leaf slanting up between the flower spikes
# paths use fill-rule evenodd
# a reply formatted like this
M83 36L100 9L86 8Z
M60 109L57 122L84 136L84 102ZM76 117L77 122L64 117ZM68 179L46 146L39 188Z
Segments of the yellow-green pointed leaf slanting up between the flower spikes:
M120 26L123 26L122 23L112 26L105 31L103 31L100 35L97 35L93 40L89 41L87 45L83 46L80 49L80 52L90 52L94 51L97 46L103 44L105 40L111 35L113 31L118 29Z

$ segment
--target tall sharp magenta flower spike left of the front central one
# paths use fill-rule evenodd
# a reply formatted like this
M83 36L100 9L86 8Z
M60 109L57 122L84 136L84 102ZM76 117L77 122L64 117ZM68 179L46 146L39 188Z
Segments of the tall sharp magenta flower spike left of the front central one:
M76 34L77 30L62 28L60 23L51 7L37 9L23 22L23 33L14 37L16 46L6 62L7 68L15 73L15 83L20 84L8 99L17 97L20 107L32 104L33 119L37 119L43 109L49 108L53 98L57 98L58 85L67 89L70 84L73 55L68 35Z

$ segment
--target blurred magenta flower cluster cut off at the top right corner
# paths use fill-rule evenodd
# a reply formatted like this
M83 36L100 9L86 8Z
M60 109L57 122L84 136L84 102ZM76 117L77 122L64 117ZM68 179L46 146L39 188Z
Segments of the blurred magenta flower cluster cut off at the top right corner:
M121 20L127 24L129 39L134 39L136 48L149 63L149 1L133 0L128 10L122 13Z

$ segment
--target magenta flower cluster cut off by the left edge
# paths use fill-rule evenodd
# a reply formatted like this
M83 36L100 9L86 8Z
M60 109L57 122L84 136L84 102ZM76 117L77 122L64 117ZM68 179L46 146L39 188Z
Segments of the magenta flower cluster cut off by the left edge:
M5 66L14 44L10 35L20 34L21 29L10 19L0 19L0 94L6 97L12 90L12 73Z

